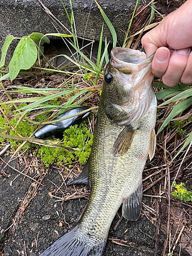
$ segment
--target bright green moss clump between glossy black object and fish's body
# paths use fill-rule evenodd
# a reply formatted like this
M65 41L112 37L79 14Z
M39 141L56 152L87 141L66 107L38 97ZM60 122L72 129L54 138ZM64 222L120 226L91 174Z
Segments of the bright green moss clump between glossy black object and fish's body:
M57 162L58 165L62 163L71 164L77 160L84 164L91 153L92 143L93 135L90 133L86 124L82 122L79 126L76 124L64 131L63 141L61 143L62 146L79 148L79 150L69 152L63 148L41 146L37 157L41 157L42 161L46 163L46 166L54 162Z

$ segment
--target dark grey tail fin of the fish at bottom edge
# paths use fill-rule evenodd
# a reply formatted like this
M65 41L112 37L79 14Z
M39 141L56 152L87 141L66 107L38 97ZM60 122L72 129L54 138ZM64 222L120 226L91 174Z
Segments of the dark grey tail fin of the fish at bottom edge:
M56 240L39 256L101 256L106 240L100 243L90 243L86 238L77 236L77 226Z

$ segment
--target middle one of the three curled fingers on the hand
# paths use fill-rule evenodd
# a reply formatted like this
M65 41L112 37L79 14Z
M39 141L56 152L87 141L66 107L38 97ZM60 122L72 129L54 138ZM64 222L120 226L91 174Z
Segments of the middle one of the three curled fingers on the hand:
M190 48L175 50L169 58L168 68L162 76L166 86L176 86L181 79L183 71L187 65Z

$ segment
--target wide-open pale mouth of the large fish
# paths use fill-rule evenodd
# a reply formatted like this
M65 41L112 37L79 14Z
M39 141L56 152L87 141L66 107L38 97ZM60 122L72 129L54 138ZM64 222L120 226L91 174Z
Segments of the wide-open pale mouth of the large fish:
M146 58L146 54L139 50L115 47L111 51L111 65L123 74L130 75L144 69L146 73L151 70L154 54Z

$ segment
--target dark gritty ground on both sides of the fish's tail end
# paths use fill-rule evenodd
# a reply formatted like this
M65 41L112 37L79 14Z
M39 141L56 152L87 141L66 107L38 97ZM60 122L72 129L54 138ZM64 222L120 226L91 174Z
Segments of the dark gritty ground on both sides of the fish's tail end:
M4 159L8 162L8 158L4 157ZM18 158L10 165L20 170L25 167L24 164L19 163ZM46 177L41 182L45 186L39 185L35 197L20 217L15 233L12 234L9 227L15 220L16 212L21 207L22 199L29 189L31 180L26 178L23 181L24 176L20 175L10 186L10 181L17 174L10 167L5 168L5 163L1 169L10 175L10 178L0 177L1 250L4 249L3 255L37 256L77 222L81 212L87 206L88 199L81 198L62 202L58 199L62 196L61 193L60 195L56 194L58 198L51 198L49 193L55 195L54 189L56 190L62 183L58 168L53 167L48 170ZM34 174L28 175L34 176ZM85 186L80 185L80 187ZM65 193L65 186L62 188ZM147 197L143 198L143 202L145 205L151 205ZM122 219L118 227L115 228L120 216L121 208L111 225L103 255L154 255L156 226L142 214L136 222ZM162 255L164 241L165 234L160 231L157 255ZM179 255L179 247L176 247L174 255ZM181 249L180 255L189 254Z

